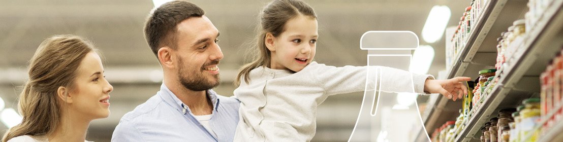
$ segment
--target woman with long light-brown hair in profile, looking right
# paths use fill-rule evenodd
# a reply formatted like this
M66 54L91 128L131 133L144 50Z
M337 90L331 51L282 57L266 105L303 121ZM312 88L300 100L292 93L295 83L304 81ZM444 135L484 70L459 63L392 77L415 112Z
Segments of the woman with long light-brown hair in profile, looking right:
M100 56L75 35L55 35L39 45L20 94L23 121L5 141L86 141L92 120L109 116L109 93Z

